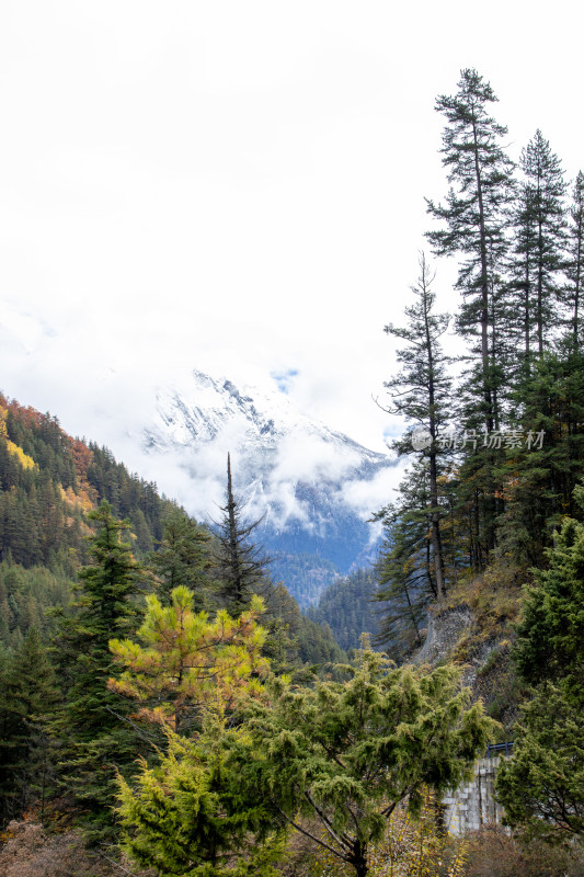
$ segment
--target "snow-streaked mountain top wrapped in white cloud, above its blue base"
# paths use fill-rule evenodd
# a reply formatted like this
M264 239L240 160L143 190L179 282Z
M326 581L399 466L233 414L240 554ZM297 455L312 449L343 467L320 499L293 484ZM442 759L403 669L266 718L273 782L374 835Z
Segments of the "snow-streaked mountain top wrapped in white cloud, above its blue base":
M282 398L282 397L280 397ZM350 510L362 521L391 498L400 467L261 391L198 375L181 392L158 394L146 430L148 465L157 480L201 520L217 520L225 502L227 455L236 492L250 517L276 529L318 528L316 510Z

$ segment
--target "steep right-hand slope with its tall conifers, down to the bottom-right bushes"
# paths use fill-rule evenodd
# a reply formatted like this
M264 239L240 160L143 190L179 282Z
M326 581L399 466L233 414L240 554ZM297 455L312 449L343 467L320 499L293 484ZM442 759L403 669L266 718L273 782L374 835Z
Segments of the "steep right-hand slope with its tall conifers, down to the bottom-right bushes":
M516 166L495 102L473 69L437 99L437 261L420 255L404 319L386 327L400 366L387 408L408 424L394 449L412 466L379 512L380 638L406 660L428 611L470 618L449 653L515 738L497 781L507 823L581 843L584 175L566 179L539 129ZM454 317L435 307L447 257ZM448 332L465 342L456 361Z

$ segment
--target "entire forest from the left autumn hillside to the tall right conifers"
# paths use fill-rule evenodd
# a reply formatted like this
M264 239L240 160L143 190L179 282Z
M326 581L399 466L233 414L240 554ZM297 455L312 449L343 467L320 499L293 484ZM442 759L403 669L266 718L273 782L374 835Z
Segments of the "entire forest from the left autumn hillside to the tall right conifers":
M306 616L230 464L210 533L0 398L0 864L41 873L67 835L79 877L584 874L584 175L540 130L516 166L495 102L473 69L437 99L436 262L386 327L411 465L375 569ZM462 608L449 660L416 662ZM509 833L453 839L440 796L501 739Z

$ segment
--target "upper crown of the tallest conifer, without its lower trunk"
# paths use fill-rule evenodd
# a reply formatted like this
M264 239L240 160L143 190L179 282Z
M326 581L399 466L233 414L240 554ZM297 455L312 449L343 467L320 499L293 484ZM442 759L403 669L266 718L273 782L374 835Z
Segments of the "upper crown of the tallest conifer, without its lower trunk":
M496 422L502 377L493 362L493 331L500 272L506 252L504 212L513 194L513 162L500 145L507 129L488 113L497 99L477 70L461 71L458 92L440 95L436 110L444 113L443 164L453 184L446 204L427 201L428 213L446 228L428 231L437 255L459 255L457 287L463 296L458 326L471 340L477 360L476 385L482 397L480 413L489 432ZM496 296L496 301L495 301Z

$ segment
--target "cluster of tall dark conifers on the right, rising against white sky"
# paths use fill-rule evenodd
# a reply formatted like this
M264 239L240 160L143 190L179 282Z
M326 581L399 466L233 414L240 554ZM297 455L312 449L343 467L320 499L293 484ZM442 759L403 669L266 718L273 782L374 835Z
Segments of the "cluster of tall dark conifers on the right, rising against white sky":
M537 130L516 167L476 70L442 95L448 189L427 201L428 244L455 257L460 308L435 311L439 261L420 258L404 321L389 323L400 371L388 410L412 467L386 526L387 641L421 641L425 607L492 563L517 579L546 563L584 475L584 175L572 183ZM466 342L456 362L447 332Z

